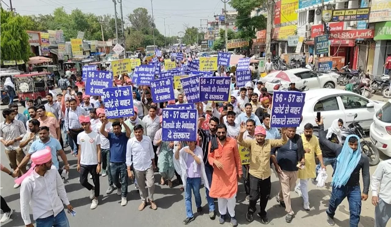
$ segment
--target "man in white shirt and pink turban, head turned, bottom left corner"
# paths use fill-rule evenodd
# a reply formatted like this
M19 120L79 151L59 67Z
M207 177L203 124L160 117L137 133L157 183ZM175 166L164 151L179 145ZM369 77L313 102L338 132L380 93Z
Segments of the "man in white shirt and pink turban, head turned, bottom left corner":
M63 180L56 167L52 166L52 154L49 149L37 151L31 155L35 166L20 187L20 213L26 227L34 227L30 220L30 202L32 215L37 227L69 227L64 205L72 211ZM62 200L62 201L61 201Z

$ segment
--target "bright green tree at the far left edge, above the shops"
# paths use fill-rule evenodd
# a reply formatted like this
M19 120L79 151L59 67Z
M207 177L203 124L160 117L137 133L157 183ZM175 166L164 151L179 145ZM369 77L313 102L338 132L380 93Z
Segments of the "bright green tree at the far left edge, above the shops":
M0 62L29 59L31 52L26 28L31 25L28 17L0 8Z

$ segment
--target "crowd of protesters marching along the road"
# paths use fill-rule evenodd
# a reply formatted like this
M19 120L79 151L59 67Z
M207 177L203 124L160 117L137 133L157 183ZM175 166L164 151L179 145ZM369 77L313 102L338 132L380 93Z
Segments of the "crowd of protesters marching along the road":
M74 82L66 75L58 83L62 92L47 94L45 105L26 101L26 110L19 114L18 105L11 103L2 111L5 121L0 123L0 142L4 144L11 169L0 165L0 170L17 177L14 188L20 187L21 215L27 227L33 226L30 206L37 227L69 226L63 206L72 214L73 207L63 183L70 168L64 151L68 146L77 158L79 181L90 191L91 209L99 205L100 180L107 176L109 186L105 193L111 194L116 189L121 206L127 205L130 179L140 193L138 210L146 206L156 210L159 204L154 200L154 175L157 172L160 184L172 188L176 177L180 190L184 191L184 224L194 220L193 195L197 213L203 213L200 188L204 185L209 217L215 219L217 215L217 200L218 222L228 221L237 226L235 205L239 182L244 184L249 201L246 219L254 220L260 200L257 215L267 224L266 206L271 196L274 166L280 183L276 200L285 208L285 220L289 223L295 215L291 191L299 193L303 209L310 210L308 183L316 183L317 170L331 165L334 173L326 222L335 224L337 207L347 197L350 226L357 227L361 201L368 199L371 186L372 203L376 206L375 225L386 226L391 213L391 161L378 165L370 184L368 157L361 153L357 136L348 136L343 144L341 119L336 119L326 130L323 119L315 119L312 124L305 124L300 135L295 127L270 127L273 99L263 83L254 86L249 82L238 88L233 77L229 102L195 103L199 113L196 141L163 141L162 109L186 103L183 90L175 90L175 100L154 103L148 86L137 87L126 75L115 80L115 86L132 86L135 112L132 117L107 119L100 96L86 95L81 77ZM313 135L315 126L319 138ZM242 165L239 145L248 148L249 164ZM32 164L27 168L29 161ZM0 209L4 212L0 222L8 221L13 210L2 197Z

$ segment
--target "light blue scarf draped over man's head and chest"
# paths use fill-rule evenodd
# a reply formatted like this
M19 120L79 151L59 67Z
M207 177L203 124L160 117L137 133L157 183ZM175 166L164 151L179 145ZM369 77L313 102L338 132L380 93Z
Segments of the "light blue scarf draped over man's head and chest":
M350 137L356 137L358 140L358 147L357 151L355 152L353 152L353 149L349 147L348 141ZM337 158L337 168L335 169L331 185L337 188L345 186L346 183L348 183L348 180L353 170L357 167L360 158L360 138L357 135L349 135L348 137L346 137L341 154L339 154Z

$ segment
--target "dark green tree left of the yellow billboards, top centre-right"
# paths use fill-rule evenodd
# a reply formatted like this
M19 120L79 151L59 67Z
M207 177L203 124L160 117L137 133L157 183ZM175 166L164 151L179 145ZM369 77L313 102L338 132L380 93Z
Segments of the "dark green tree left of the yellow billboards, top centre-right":
M249 41L249 50L253 45L253 39L256 38L255 31L266 28L266 18L263 15L251 17L251 11L261 5L266 4L265 0L231 0L231 7L236 9L236 27L238 27L238 36Z

